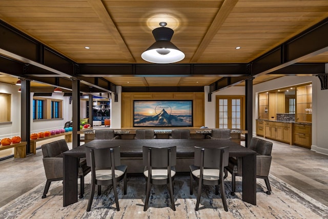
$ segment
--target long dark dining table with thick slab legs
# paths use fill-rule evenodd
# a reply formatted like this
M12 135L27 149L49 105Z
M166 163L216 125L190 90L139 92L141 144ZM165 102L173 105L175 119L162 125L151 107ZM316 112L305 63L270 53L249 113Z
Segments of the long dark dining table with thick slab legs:
M85 145L64 152L63 206L77 202L77 160L86 157L85 147L109 148L120 146L121 159L142 157L142 146L177 146L179 158L193 158L194 146L229 146L229 156L242 157L242 200L256 205L256 152L230 140L211 139L153 139L153 140L93 140ZM129 168L129 166L128 166Z

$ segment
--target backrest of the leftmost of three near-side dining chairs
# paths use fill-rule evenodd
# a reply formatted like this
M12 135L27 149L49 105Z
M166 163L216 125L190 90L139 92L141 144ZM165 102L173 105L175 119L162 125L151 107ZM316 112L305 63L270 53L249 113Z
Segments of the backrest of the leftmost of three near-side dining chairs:
M87 166L96 169L106 169L112 167L112 160L114 166L121 164L119 147L113 148L93 148L86 147ZM92 163L94 162L94 166Z

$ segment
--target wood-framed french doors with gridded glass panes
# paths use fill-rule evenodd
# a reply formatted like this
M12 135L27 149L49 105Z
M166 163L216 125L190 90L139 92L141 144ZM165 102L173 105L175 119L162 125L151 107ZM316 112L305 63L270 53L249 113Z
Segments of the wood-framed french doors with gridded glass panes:
M216 128L244 129L244 96L216 96Z

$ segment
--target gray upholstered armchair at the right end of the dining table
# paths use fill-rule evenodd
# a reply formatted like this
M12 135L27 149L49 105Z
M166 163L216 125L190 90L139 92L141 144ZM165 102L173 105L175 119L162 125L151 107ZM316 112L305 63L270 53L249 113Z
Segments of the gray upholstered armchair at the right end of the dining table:
M272 151L272 142L262 140L257 137L251 139L249 146L250 149L256 151L256 177L263 178L265 185L267 186L268 195L271 194L271 186L269 182L269 171L271 166L271 151ZM231 194L235 195L236 191L236 176L242 176L242 158L241 157L230 157L229 165L226 167L232 174L232 191Z

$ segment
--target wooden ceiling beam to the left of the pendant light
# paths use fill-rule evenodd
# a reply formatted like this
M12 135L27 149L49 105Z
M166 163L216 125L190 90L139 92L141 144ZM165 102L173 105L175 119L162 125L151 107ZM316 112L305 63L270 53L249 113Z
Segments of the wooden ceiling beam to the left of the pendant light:
M134 63L135 59L132 56L131 51L117 30L103 2L101 2L101 0L88 0L88 3L93 8L94 12L98 15L100 21L104 24L104 27L111 34L118 47L122 50L122 53L126 56L128 62Z

